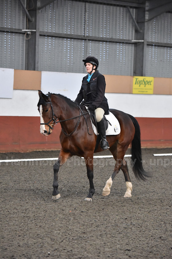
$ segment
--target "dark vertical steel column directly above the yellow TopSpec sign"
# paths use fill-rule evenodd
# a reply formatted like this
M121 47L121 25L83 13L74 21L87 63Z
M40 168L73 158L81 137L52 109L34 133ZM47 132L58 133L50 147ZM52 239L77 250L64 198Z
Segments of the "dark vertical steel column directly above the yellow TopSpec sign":
M146 65L146 35L145 35L145 7L136 9L136 22L140 32L136 31L135 40L144 40L135 44L134 76L145 76Z

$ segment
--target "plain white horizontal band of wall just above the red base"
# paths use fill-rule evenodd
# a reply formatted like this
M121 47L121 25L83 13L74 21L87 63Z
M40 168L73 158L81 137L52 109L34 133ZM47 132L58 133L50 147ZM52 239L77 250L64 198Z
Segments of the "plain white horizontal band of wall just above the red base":
M79 92L79 88L72 88ZM68 92L68 91L66 91ZM75 94L73 94L73 97ZM172 95L142 95L106 93L109 107L129 113L134 117L171 118ZM70 96L69 96L70 98ZM73 99L73 98L70 98ZM34 90L14 90L12 99L1 99L0 116L38 116L38 92Z

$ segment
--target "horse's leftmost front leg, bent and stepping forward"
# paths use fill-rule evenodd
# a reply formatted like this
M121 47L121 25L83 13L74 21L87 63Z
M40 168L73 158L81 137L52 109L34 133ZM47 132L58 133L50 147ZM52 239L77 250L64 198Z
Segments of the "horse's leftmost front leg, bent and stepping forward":
M68 159L68 157L70 156L70 154L64 152L63 150L60 151L59 154L59 158L57 159L57 162L55 163L55 165L53 166L53 170L54 170L54 180L53 180L53 195L52 195L52 200L58 200L61 195L58 191L58 171L60 166L62 166Z

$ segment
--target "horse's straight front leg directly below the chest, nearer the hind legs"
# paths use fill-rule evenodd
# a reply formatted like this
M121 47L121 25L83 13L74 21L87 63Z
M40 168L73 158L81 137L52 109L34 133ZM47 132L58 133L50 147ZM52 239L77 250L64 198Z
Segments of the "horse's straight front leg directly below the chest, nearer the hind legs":
M87 177L90 183L89 193L85 200L92 201L92 196L95 193L94 184L93 184L93 155L91 157L85 158L86 167L87 167Z

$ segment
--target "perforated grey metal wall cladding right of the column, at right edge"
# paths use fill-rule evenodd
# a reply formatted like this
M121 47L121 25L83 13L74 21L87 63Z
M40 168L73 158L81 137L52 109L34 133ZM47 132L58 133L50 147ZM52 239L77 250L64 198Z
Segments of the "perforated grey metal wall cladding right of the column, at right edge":
M147 23L147 41L172 44L172 14L164 13ZM146 76L172 77L172 47L147 46Z

